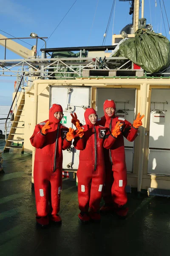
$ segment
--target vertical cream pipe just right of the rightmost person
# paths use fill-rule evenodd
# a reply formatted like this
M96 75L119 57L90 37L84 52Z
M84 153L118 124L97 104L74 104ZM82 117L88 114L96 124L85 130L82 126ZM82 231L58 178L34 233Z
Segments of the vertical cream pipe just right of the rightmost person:
M140 87L140 113L144 114L142 119L142 127L139 128L140 140L139 140L139 167L138 167L138 192L141 192L142 176L143 176L143 162L144 162L144 140L145 140L145 128L146 128L146 105L147 105L147 91L149 86L147 83L141 84Z

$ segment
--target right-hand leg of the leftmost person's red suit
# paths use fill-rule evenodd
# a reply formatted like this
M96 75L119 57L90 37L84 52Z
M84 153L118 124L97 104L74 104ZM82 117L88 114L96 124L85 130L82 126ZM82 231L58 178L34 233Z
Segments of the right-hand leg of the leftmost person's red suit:
M60 209L60 193L62 189L62 169L51 173L51 215L56 215Z

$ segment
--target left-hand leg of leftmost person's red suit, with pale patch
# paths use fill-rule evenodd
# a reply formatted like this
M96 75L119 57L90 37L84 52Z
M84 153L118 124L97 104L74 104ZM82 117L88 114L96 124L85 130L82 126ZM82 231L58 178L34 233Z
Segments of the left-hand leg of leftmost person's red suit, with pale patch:
M45 217L48 215L48 186L50 180L49 163L34 163L34 190L37 207L37 215Z

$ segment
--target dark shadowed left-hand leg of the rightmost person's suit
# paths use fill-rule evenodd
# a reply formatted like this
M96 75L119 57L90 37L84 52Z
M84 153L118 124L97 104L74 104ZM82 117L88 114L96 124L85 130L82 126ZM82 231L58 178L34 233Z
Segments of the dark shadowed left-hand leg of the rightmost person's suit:
M103 199L106 205L113 204L111 188L113 185L113 171L110 162L105 162L105 184L103 187Z

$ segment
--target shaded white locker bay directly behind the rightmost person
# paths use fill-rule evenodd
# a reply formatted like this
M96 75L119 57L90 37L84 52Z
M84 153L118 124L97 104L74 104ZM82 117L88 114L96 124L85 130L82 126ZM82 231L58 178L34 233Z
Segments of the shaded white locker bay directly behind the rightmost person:
M96 111L98 117L104 116L103 103L106 99L113 99L116 103L116 111L118 111L119 116L125 115L121 113L125 110L127 114L125 119L133 123L135 115L136 106L136 89L114 89L114 88L98 88L96 95ZM125 156L126 156L126 166L127 172L133 172L133 142L129 142L124 138L125 143Z

